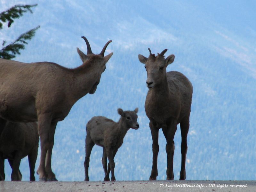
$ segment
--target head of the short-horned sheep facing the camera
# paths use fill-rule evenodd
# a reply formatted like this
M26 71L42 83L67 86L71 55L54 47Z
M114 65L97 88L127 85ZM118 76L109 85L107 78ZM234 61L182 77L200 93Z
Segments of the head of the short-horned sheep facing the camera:
M171 64L174 60L174 55L169 55L166 59L164 58L164 53L167 52L167 49L162 51L160 54L151 53L149 50L149 57L144 57L139 54L139 60L141 63L145 64L145 68L147 71L148 79L146 81L147 87L152 89L155 85L160 84L164 81L166 77L166 67Z

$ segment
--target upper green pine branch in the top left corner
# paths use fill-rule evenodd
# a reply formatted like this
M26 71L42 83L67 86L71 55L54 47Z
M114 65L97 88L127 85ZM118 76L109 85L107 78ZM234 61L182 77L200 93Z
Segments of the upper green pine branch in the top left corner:
M8 27L11 27L12 23L14 22L13 19L17 19L20 16L23 16L25 12L31 12L31 7L35 7L37 4L32 5L14 5L13 7L9 8L8 10L0 13L0 20L2 22L8 21ZM0 29L3 28L3 23L0 21Z

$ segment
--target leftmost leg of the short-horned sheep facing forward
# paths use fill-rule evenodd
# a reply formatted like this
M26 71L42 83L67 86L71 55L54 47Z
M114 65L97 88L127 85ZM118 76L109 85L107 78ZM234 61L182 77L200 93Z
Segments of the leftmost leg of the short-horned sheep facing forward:
M157 156L159 151L159 145L158 145L158 132L159 129L156 128L156 126L153 124L153 122L150 120L149 127L151 130L151 136L152 136L152 151L153 151L153 162L152 162L152 170L151 175L149 177L149 180L156 180L156 176L158 175L157 172Z

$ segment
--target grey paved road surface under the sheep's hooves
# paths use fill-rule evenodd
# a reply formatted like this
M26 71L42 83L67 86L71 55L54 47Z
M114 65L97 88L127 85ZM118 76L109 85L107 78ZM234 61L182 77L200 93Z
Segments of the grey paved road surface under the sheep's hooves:
M0 181L0 192L255 192L256 181Z

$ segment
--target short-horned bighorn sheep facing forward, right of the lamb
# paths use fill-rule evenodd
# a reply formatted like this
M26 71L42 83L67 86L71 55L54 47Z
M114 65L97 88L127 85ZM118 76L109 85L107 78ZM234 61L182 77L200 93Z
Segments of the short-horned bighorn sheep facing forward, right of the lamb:
M174 55L166 59L165 49L157 56L152 54L150 49L149 57L139 54L139 60L145 64L148 79L146 81L148 94L145 101L146 115L150 122L149 127L152 135L153 165L149 180L156 180L157 176L157 155L159 151L158 131L162 128L166 138L167 153L167 180L173 180L173 155L174 155L174 134L177 124L181 130L181 170L180 180L186 179L186 154L187 135L189 129L189 115L192 101L193 87L186 76L177 71L166 73L167 65L174 60Z

